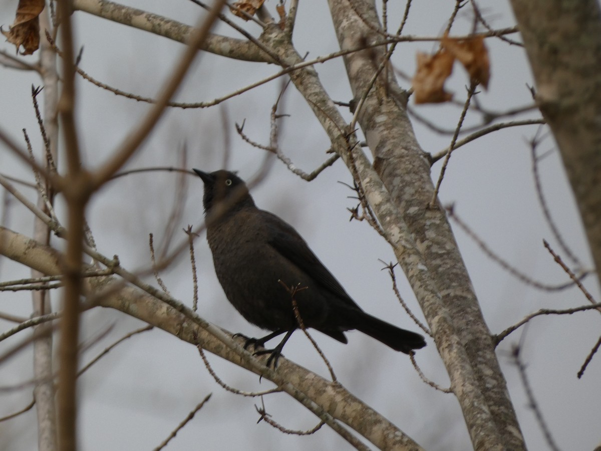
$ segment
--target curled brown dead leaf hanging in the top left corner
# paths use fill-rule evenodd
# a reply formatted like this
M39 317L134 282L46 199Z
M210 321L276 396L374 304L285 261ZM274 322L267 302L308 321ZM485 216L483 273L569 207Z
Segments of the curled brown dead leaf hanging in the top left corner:
M31 55L40 47L38 16L43 9L44 0L19 0L13 25L8 27L8 31L0 27L7 41L17 46L17 52L23 46L22 55Z

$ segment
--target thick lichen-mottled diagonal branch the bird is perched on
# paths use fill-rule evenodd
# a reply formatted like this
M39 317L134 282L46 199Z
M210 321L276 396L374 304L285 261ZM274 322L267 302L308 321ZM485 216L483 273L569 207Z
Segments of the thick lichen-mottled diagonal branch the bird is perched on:
M0 254L46 274L60 272L56 263L58 253L55 250L36 244L31 239L2 227L0 227ZM86 283L90 292L94 293L106 290L115 282L110 277L99 277L87 279ZM149 291L153 293L151 296L135 287L121 286L117 292L103 296L100 303L103 307L116 308L148 324L156 325L182 340L200 345L273 381L282 391L302 403L353 446L362 446L362 444L340 422L346 423L377 446L394 441L398 449L421 449L415 441L356 399L340 384L328 382L283 357L279 360L278 370L273 371L265 366L266 357L255 358L236 340L232 340L230 334L200 318L185 305L169 298L160 290L149 289ZM162 299L165 301L163 302ZM123 302L124 300L127 302ZM172 305L173 308L165 304ZM11 353L14 352L16 351L11 350ZM332 403L332 399L336 402ZM349 408L338 408L341 405ZM366 418L370 419L367 423Z

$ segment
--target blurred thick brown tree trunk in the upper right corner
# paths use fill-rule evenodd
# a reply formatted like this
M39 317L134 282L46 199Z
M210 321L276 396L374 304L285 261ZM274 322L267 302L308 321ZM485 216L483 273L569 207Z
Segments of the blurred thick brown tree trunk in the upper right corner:
M512 0L601 279L601 10L598 0Z

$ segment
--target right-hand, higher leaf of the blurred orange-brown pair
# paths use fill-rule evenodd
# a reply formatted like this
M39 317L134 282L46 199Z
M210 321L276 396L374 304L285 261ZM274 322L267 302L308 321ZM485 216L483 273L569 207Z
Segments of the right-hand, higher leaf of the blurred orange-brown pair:
M442 47L454 55L468 71L470 78L484 88L488 88L490 80L490 60L484 45L484 36L474 35L468 39L454 39L445 35Z

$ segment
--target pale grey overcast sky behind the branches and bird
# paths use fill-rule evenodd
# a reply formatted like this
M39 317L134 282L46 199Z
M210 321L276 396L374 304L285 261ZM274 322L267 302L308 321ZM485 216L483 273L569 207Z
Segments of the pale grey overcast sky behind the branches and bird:
M162 14L193 24L198 8L191 2L129 0L124 4ZM514 25L507 2L480 1L481 10L495 28ZM267 2L275 14L275 2ZM0 23L13 21L16 0L0 7ZM402 17L404 2L388 2L389 26L395 29ZM440 35L450 16L453 2L442 0L414 1L407 22L407 34ZM466 7L465 11L469 8ZM143 96L154 96L172 69L172 63L183 49L182 44L146 32L77 12L78 45L84 46L82 69L109 85ZM253 23L243 23L257 35ZM460 13L454 33L471 28L471 15ZM219 25L216 32L236 36L236 32ZM514 37L517 38L517 35ZM332 22L325 2L301 2L294 34L300 54L309 57L329 54L338 49ZM478 94L486 108L504 110L531 103L526 85L532 77L518 46L487 41L492 62L490 89ZM401 44L392 58L396 69L412 74L415 52L430 52L432 43ZM14 52L4 43L1 49ZM26 57L35 62L37 56ZM230 91L271 75L274 66L239 63L202 54L188 75L178 100L198 102L212 100ZM335 100L348 101L351 94L341 60L316 67L323 84ZM21 140L28 129L35 149L40 151L40 138L32 113L29 91L39 85L37 76L0 67L0 124L13 137ZM448 89L456 99L465 98L465 73L456 67ZM409 87L400 80L401 87ZM236 135L234 122L245 123L245 132L255 141L267 143L269 114L280 88L271 82L224 104L224 109L169 111L145 142L128 167L178 165L178 149L186 143L189 167L216 170L224 160L224 135L230 134L229 167L248 179L260 165L263 155ZM416 106L442 127L453 129L460 109L448 105ZM147 111L148 105L116 97L86 81L78 82L78 123L86 164L96 165L127 136L130 127ZM223 112L230 118L222 120ZM305 101L291 87L285 100L285 121L280 144L299 167L313 170L328 155L328 140L311 116ZM350 119L350 115L348 115ZM522 117L537 117L531 112ZM467 124L477 123L469 116ZM427 152L436 153L450 142L413 121L419 143ZM443 203L456 203L456 212L478 235L504 259L536 280L560 283L566 280L560 268L542 246L542 239L552 239L537 203L532 180L531 156L526 140L536 126L507 129L487 135L454 153L442 185ZM548 196L558 227L581 258L591 266L578 212L561 167L561 159L551 138L543 141L540 152L549 155L540 162L543 191ZM440 164L433 167L438 177ZM26 167L0 147L0 172L32 180ZM401 327L416 330L391 290L382 263L394 254L364 222L349 222L347 207L355 201L353 193L337 181L350 183L350 174L341 162L324 171L314 182L307 183L275 162L266 181L252 194L258 206L284 218L305 237L311 248L361 307ZM162 236L169 215L177 178L171 173L133 175L117 180L100 192L91 203L88 219L99 250L106 255L118 254L130 269L148 263L148 233ZM32 192L31 197L34 198ZM203 221L202 183L189 177L188 197L178 229ZM8 227L23 233L32 230L32 218L22 207L13 206ZM539 308L567 308L585 303L576 290L541 292L532 289L491 262L478 246L455 227L463 258L468 266L481 308L493 333L514 324ZM183 233L178 239L185 239ZM60 241L56 241L61 246ZM197 260L201 289L199 311L204 318L233 332L258 336L231 307L216 281L209 248L203 239L197 242ZM28 277L28 270L6 261L0 262L2 280ZM171 293L191 304L192 281L185 259L164 274ZM397 280L401 294L421 318L410 289L400 272ZM588 289L598 299L598 287L588 281ZM54 295L56 298L57 296ZM30 314L26 293L0 294L0 308L13 314ZM593 449L599 444L599 359L593 360L582 379L576 372L598 338L599 324L594 314L579 313L569 317L535 319L528 327L514 333L499 346L505 377L517 410L526 444L532 450L546 449L542 432L527 406L516 368L511 363L511 346L520 339L522 357L528 375L552 435L561 449ZM109 325L109 337L85 353L83 361L108 346L121 333L140 327L138 321L108 310L84 314L84 336L96 336ZM12 327L0 320L0 331ZM349 334L344 346L329 337L315 333L326 355L331 358L341 384L352 393L400 426L413 439L429 450L465 450L471 447L461 412L450 394L439 393L423 384L409 359L399 356L380 343L359 333ZM0 343L0 349L11 343ZM326 369L302 334L295 334L287 344L285 355L326 376ZM433 343L418 353L418 362L426 375L445 386L448 378ZM242 390L270 387L257 377L209 355L216 372L228 384ZM0 372L0 385L16 384L31 377L31 355L5 365ZM197 413L192 422L169 445L168 449L344 449L347 444L338 435L323 428L310 437L281 434L265 423L256 424L254 405L260 400L226 393L207 373L193 346L178 342L159 330L130 339L97 364L81 381L81 444L84 450L152 449L164 440L188 412L208 393L212 399ZM17 410L31 400L29 390L2 394L0 416ZM266 397L267 411L277 422L291 429L310 429L317 420L284 395ZM8 450L35 449L37 438L32 425L35 413L0 423L2 445Z

